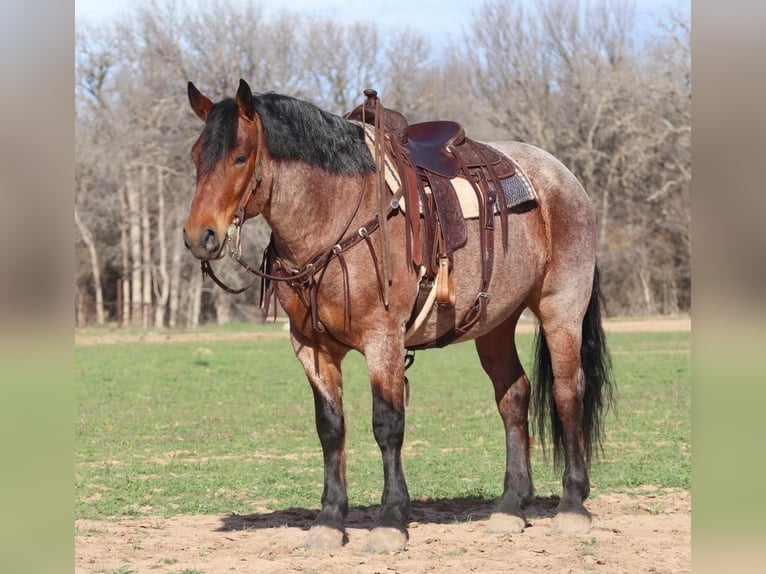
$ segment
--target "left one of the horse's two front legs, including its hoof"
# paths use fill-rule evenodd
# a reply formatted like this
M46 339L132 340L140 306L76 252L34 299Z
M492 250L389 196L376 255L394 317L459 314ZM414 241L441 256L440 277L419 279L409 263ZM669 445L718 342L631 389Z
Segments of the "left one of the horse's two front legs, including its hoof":
M302 344L293 337L295 354L303 364L314 393L314 414L324 458L322 509L305 540L312 548L337 548L347 542L343 520L348 515L346 490L346 424L340 356Z

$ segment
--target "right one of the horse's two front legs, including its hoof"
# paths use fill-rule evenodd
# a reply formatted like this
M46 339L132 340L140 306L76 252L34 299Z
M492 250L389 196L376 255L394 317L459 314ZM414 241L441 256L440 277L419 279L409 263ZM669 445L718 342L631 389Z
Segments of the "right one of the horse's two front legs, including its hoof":
M410 495L402 468L404 442L404 348L378 345L381 353L367 352L372 385L372 430L383 457L383 495L380 514L365 550L401 551L407 543Z

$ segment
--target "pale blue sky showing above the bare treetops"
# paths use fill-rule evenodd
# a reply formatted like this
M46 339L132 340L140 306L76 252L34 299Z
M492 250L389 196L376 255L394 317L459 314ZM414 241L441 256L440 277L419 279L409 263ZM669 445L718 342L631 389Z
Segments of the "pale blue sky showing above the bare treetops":
M195 0L179 0L193 4ZM200 0L204 1L204 0ZM234 0L237 2L238 0ZM638 24L653 23L653 15L664 13L668 6L690 11L691 0L636 0ZM136 0L75 0L75 21L99 24L129 13ZM369 21L384 27L428 28L461 36L481 7L481 0L262 0L267 10L288 9L305 15L330 18L338 22ZM435 44L438 44L438 39Z

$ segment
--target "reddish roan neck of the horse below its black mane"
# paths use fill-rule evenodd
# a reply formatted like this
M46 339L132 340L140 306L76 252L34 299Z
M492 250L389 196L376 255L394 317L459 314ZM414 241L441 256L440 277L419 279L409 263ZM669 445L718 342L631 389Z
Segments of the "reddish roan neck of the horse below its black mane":
M372 178L333 175L297 161L275 164L263 215L285 262L299 267L347 235L349 223L361 225L372 218L368 193Z

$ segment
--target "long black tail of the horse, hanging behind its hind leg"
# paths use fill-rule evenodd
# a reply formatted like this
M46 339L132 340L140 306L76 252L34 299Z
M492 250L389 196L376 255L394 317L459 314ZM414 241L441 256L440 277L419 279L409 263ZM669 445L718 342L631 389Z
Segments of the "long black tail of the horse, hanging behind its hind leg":
M553 400L553 366L545 334L538 329L535 352L534 411L540 444L545 448L547 421L550 421L553 462L559 467L564 453L564 432ZM585 460L590 464L593 447L603 450L604 416L614 405L612 360L606 348L606 338L601 325L601 290L598 267L593 276L593 290L588 310L582 324L582 347L580 363L585 376L583 399L583 432L585 434Z

